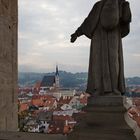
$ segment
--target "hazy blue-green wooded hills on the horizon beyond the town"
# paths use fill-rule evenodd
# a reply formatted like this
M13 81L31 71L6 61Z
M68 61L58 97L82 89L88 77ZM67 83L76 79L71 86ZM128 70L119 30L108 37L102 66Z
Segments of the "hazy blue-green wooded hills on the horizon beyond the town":
M44 75L54 75L55 73L24 73L19 72L18 83L20 86L34 85L37 81L41 81ZM66 71L59 71L60 85L64 88L85 88L87 83L88 73L79 72L71 73ZM140 77L126 78L127 86L140 85Z

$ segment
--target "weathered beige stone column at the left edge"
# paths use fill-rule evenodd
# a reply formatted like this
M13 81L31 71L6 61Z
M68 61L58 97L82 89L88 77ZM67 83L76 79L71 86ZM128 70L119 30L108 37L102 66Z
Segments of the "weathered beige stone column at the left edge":
M0 0L0 131L17 131L17 0Z

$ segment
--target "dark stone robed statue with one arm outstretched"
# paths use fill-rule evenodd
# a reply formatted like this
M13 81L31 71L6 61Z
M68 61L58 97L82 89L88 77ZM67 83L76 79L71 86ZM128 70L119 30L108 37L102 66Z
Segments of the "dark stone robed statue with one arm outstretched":
M87 93L125 93L122 38L129 34L130 22L128 1L101 0L71 35L72 43L81 35L91 39Z

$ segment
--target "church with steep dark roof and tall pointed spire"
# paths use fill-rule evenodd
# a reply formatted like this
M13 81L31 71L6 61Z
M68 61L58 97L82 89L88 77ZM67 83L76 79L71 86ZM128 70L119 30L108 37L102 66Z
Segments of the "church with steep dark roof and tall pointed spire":
M55 75L46 75L43 77L40 85L40 95L46 94L47 91L59 88L59 72L56 66Z

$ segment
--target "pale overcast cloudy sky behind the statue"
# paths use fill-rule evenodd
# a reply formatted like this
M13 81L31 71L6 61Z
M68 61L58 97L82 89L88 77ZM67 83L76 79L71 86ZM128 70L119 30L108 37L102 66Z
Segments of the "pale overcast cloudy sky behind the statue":
M19 0L18 66L21 72L87 72L90 40L70 43L97 0ZM140 76L140 1L129 0L130 34L123 39L125 76Z

